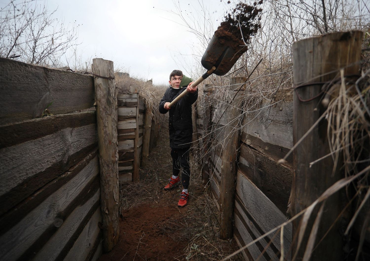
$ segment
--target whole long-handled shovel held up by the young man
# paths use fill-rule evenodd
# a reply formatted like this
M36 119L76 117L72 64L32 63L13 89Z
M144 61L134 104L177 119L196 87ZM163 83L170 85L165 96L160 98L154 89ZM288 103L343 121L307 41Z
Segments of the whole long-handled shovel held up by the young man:
M230 45L226 44L222 38L219 38L216 35L213 35L211 41L208 44L206 51L202 56L202 66L207 69L207 71L200 76L195 82L190 85L197 86L199 83L203 82L208 76L212 73L222 76L225 75L227 72L230 71L232 66L238 61L240 56L244 52L247 51L246 46L241 46L239 50L236 50L235 47L231 47ZM174 106L178 100L184 97L188 93L188 90L184 90L184 92L180 93L169 105L168 107Z

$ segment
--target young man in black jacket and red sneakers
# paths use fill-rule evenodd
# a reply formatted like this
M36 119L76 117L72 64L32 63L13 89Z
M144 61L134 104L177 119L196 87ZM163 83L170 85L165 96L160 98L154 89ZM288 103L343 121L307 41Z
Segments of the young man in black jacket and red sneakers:
M190 181L189 148L192 141L193 124L191 118L191 105L198 98L198 87L190 87L192 79L186 77L179 70L174 70L169 75L169 87L166 90L161 102L159 112L169 111L169 147L172 157L172 177L165 190L179 186L179 172L182 168L181 183L182 192L178 207L184 207L189 200L188 186ZM185 88L186 87L186 88ZM171 108L168 105L180 93L187 89L188 93Z

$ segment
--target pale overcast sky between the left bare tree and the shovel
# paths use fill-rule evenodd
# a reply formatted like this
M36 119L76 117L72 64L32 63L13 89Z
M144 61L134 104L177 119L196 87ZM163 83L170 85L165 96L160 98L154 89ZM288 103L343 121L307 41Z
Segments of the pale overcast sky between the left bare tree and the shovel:
M58 8L55 16L63 17L65 24L75 20L80 24L78 41L82 44L78 52L83 60L91 56L112 60L115 68L123 67L122 71L129 72L130 76L144 80L152 78L154 84L167 84L173 69L191 74L183 62L178 61L191 57L189 55L196 49L192 45L197 45L195 35L181 25L184 22L180 17L169 11L176 12L175 4L180 4L184 11L192 8L195 15L207 10L214 21L215 31L220 18L226 14L229 6L226 2L48 0L47 5L49 10ZM184 56L179 57L179 52Z

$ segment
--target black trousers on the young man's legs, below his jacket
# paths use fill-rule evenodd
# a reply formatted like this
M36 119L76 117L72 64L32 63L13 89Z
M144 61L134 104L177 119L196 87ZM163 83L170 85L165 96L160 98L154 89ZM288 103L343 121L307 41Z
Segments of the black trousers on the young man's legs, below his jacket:
M171 148L172 174L178 176L182 168L182 187L187 189L190 182L189 148Z

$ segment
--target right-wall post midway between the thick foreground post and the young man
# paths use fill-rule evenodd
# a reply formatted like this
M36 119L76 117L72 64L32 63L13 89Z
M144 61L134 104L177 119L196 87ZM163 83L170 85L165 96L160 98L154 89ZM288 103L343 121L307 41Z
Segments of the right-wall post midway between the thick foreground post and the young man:
M245 81L243 77L232 78L230 81L230 100L234 97L237 89ZM245 86L243 86L245 89ZM236 89L236 90L235 90ZM229 123L225 126L225 140L222 150L221 182L220 182L220 238L228 239L233 236L232 217L234 209L234 193L236 180L236 158L239 150L240 129L239 116L241 110L240 92L236 95L231 105L226 109L226 119Z

